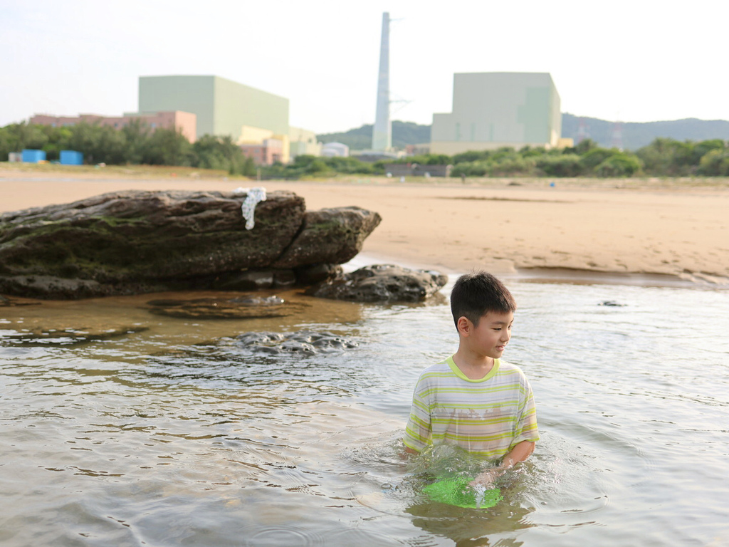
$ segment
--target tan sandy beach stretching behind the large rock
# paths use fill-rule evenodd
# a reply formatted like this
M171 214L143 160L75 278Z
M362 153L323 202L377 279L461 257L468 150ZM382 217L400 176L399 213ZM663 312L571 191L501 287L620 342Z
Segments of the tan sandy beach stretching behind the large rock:
M363 255L443 273L692 282L729 287L729 186L545 179L324 182L195 174L0 169L0 212L129 190L291 190L308 209L356 205L382 216Z

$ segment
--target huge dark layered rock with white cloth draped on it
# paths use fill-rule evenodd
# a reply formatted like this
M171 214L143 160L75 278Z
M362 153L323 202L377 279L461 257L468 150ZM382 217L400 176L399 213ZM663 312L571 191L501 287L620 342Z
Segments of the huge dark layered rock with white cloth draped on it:
M2 214L0 293L87 298L209 289L267 271L285 286L297 268L349 260L379 222L357 208L306 213L303 198L276 191L257 204L254 228L246 230L245 198L128 190ZM337 247L337 238L346 241ZM321 241L327 245L317 252Z

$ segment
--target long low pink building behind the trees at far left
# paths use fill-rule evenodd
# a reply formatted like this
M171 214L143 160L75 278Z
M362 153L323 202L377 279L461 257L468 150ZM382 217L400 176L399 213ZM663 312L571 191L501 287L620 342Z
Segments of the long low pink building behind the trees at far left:
M152 128L152 130L168 128L180 131L188 141L195 142L198 117L190 112L182 112L179 110L174 112L155 112L154 114L127 114L120 117L106 117L95 114L81 114L77 117L36 114L34 117L31 117L30 123L51 125L52 127L76 125L77 123L98 123L99 125L110 125L115 129L121 129L125 125L129 125L132 120L141 120Z

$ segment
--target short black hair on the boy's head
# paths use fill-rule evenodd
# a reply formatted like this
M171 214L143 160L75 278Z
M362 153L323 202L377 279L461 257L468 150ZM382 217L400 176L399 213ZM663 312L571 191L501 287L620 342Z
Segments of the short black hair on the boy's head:
M451 313L456 328L459 317L466 317L477 326L488 311L499 314L516 311L516 300L499 279L485 271L460 276L451 290Z

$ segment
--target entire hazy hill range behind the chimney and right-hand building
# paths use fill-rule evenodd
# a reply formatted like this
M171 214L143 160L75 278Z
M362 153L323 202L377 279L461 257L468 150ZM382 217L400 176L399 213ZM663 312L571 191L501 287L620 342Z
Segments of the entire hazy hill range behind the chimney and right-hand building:
M599 120L596 117L580 117L565 112L562 115L562 136L577 142L583 120L588 137L602 147L612 147L614 122ZM623 122L620 123L623 149L638 150L650 144L657 137L667 137L677 141L706 141L708 139L729 140L729 121L726 120L673 120L668 122ZM372 147L372 125L362 125L344 133L325 133L317 135L320 142L341 142L351 150L367 150ZM430 142L430 125L413 122L392 122L392 146L405 148L407 144Z

